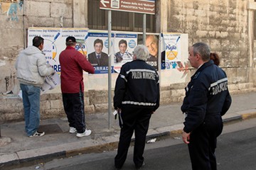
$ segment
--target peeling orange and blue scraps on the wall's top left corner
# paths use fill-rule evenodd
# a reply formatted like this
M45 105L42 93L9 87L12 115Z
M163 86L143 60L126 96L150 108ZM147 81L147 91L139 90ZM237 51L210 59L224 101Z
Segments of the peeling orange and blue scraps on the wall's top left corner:
M9 21L18 21L18 10L21 11L23 0L0 0L0 12L6 13Z

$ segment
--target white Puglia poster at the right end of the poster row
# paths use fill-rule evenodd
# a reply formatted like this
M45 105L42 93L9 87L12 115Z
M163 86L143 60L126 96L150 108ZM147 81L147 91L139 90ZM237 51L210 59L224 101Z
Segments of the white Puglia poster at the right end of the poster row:
M183 83L188 74L188 34L161 34L161 75L165 84Z

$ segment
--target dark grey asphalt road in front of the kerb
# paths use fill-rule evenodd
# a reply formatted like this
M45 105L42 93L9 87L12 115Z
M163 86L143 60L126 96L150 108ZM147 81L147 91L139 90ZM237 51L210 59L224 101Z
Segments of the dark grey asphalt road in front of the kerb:
M132 149L122 170L135 169L132 162ZM114 169L116 151L98 154L83 154L67 159L55 159L46 164L37 164L23 169L61 170L108 170ZM216 149L218 170L255 170L256 167L256 118L225 125L223 134L218 137ZM191 169L188 148L181 142L180 135L146 145L144 152L146 165L143 169Z

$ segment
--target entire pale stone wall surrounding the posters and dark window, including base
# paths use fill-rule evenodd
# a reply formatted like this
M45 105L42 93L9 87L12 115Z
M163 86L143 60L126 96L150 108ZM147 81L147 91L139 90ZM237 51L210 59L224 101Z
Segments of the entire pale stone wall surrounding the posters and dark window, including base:
M255 91L256 45L251 22L254 1L156 0L156 7L157 32L188 33L188 45L207 42L221 57L220 67L228 74L231 93ZM0 94L14 92L0 95L0 120L22 120L14 62L26 47L28 28L86 28L87 0L1 1L0 23ZM190 68L188 75L193 72ZM183 84L162 86L161 104L182 101L187 81L189 77ZM50 93L41 98L41 118L65 116L60 91ZM107 111L107 91L85 91L85 111Z

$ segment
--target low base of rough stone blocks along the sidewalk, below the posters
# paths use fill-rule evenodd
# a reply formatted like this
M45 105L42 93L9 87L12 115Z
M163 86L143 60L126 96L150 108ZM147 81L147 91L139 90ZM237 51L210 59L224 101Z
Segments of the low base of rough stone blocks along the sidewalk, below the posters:
M183 101L186 84L171 84L161 87L160 105L173 104ZM230 94L244 94L256 91L252 83L230 84ZM85 92L85 114L107 113L107 91ZM114 91L112 91L112 96ZM112 111L114 111L112 105ZM64 118L61 94L43 94L41 96L41 119ZM0 124L10 121L23 120L22 99L17 96L1 96L0 98Z

